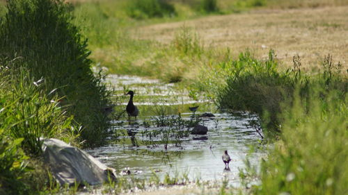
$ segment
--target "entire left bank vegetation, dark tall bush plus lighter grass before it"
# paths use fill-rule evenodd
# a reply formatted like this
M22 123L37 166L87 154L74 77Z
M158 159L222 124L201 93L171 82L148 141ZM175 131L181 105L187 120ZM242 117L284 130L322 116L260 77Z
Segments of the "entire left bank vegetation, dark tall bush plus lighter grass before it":
M63 1L7 1L0 24L0 194L38 194L54 183L40 137L100 146L109 92Z

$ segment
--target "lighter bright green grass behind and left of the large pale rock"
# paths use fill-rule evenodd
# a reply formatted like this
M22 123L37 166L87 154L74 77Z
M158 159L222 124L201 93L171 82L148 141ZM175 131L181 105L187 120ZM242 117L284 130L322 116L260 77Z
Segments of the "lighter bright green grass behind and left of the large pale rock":
M18 59L12 63L22 66ZM47 182L40 137L77 145L79 132L56 92L45 89L45 80L6 65L0 66L0 192L35 194Z

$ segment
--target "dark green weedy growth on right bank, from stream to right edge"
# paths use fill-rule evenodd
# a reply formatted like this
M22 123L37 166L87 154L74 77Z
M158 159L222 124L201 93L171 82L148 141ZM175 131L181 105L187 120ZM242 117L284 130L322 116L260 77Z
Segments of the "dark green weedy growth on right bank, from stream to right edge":
M241 53L237 60L228 62L228 78L221 87L218 103L221 108L232 110L250 110L258 113L262 125L278 130L282 118L281 103L292 101L295 87L299 87L302 97L310 94L310 88L322 85L326 90L340 90L338 99L345 99L347 79L340 74L340 63L334 64L326 57L324 72L308 76L301 72L301 60L294 57L294 67L287 71L278 70L274 51L269 52L265 61L256 60L251 53Z

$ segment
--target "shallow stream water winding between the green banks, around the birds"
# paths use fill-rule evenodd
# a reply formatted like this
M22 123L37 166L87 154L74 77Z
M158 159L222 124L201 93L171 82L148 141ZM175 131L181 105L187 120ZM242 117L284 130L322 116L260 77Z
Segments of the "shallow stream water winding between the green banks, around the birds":
M131 124L123 112L119 119L112 121L109 144L87 151L120 174L128 172L146 179L153 174L163 178L168 173L204 181L227 177L232 186L238 187L239 169L245 168L246 157L258 166L264 155L259 149L261 137L250 126L256 115L221 112L214 103L193 100L186 90L159 80L109 75L106 82L115 90L113 98L118 103L116 109L120 109L116 111L125 110L128 90L134 91L134 105L140 110L139 117L136 120L132 117ZM189 107L197 105L193 115ZM198 117L205 112L214 117ZM190 135L192 128L182 125L183 121L197 120L207 126L207 135ZM230 171L225 170L221 159L225 150L232 158Z

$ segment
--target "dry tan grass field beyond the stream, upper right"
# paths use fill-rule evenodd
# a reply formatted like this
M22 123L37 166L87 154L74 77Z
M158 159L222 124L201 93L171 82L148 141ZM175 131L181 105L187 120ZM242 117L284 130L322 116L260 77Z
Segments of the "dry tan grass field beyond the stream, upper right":
M348 63L348 6L254 10L232 15L214 15L184 22L142 26L133 37L170 43L182 26L198 33L205 46L230 48L233 53L251 49L266 57L274 49L285 67L299 55L304 67L317 67L325 55L342 66Z

